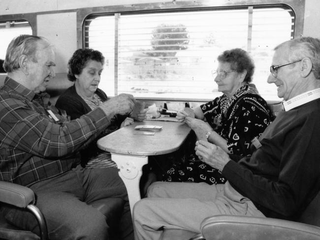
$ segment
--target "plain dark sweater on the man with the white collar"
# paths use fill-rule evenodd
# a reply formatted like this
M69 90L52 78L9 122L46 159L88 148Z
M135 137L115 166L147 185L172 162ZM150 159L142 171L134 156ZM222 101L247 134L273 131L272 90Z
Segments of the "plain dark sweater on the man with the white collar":
M320 99L281 112L223 175L267 217L295 220L320 190Z

